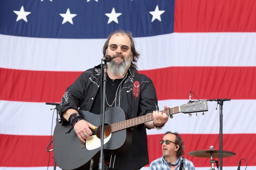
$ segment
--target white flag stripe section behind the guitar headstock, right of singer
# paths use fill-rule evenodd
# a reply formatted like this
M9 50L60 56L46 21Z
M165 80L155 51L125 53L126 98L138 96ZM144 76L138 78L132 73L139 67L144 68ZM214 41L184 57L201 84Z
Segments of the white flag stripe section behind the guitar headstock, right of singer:
M158 102L160 110L163 105L175 107L186 104L188 100L162 100ZM147 130L147 134L165 133L168 130L180 134L219 134L219 106L217 102L208 102L208 111L188 114L178 113L174 119L167 121L161 131L156 129ZM256 133L256 100L231 100L223 104L223 134ZM245 123L246 122L246 123ZM245 123L245 124L244 124Z

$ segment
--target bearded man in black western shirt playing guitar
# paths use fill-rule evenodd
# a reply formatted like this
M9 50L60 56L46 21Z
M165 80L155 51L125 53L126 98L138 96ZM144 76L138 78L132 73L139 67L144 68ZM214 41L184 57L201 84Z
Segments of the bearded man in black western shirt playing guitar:
M118 30L108 36L103 46L103 55L112 57L111 62L107 63L104 110L115 106L121 107L126 113L126 119L141 117L148 113L152 113L153 116L154 121L142 122L128 129L131 131L131 145L125 154L113 153L109 156L108 164L112 169L139 170L149 164L146 128L162 129L168 116L157 111L156 90L151 79L137 72L136 63L139 53L135 49L134 40L129 32ZM100 77L100 65L83 72L66 89L60 104L59 122L69 122L81 142L94 139L95 135L92 130L99 126L99 124L91 124L83 119L78 111L87 110L94 114L101 113ZM164 109L167 109L167 106Z

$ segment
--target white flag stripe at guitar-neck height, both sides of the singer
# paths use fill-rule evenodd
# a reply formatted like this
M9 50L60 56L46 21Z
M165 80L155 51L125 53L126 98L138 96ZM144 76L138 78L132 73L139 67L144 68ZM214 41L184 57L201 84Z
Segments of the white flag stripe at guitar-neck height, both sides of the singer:
M186 104L188 100L162 100L158 105L175 107ZM218 134L219 133L219 107L215 110L217 102L208 102L208 111L187 114L178 113L170 119L161 131L148 130L148 134L164 133L167 130L187 134ZM52 114L54 106L45 103L0 101L0 134L18 135L50 135ZM256 100L231 100L223 104L223 133L256 133ZM246 122L246 125L243 123ZM54 113L53 125L56 123ZM11 127L11 128L10 128Z

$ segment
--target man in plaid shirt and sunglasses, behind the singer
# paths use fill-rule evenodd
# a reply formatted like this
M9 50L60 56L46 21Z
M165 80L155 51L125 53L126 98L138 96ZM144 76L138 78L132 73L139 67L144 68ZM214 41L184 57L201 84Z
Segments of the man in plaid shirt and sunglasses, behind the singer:
M160 144L163 156L152 161L150 170L195 170L193 163L182 157L184 145L177 132L166 132Z

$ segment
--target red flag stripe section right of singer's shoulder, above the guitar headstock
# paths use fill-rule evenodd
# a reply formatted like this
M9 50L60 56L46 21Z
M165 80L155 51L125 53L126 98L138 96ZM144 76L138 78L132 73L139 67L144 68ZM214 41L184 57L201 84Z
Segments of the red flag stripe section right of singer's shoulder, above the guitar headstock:
M256 67L169 67L141 71L154 83L158 100L256 99Z

